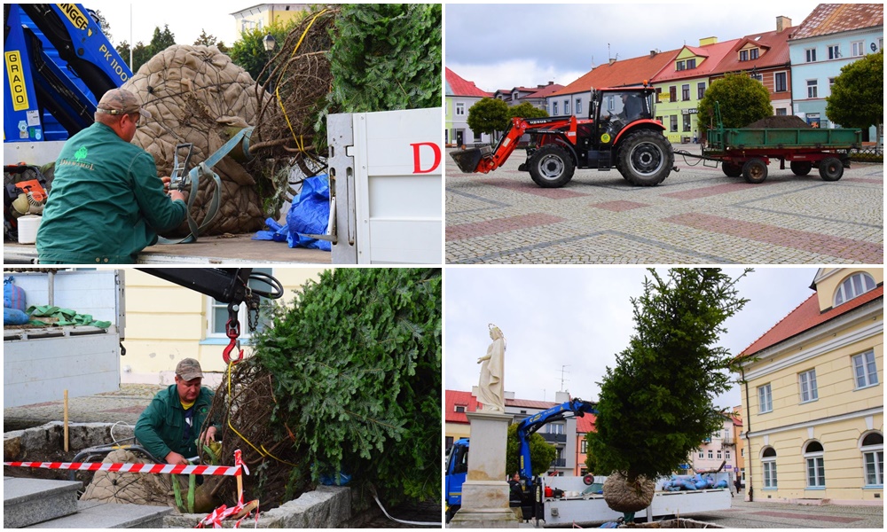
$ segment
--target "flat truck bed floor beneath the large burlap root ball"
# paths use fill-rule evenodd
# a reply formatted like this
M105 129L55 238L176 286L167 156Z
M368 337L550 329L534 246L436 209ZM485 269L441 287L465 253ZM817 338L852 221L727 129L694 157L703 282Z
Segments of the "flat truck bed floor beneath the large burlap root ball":
M34 245L4 242L4 264L33 264ZM330 264L330 252L291 248L286 242L253 240L251 234L201 237L191 244L158 244L138 255L139 264L237 264L237 263Z

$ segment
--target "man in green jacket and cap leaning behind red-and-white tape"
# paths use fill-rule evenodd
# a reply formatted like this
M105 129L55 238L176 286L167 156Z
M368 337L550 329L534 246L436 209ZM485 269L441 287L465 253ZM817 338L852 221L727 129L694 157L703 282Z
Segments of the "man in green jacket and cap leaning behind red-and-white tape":
M200 363L184 358L176 366L176 384L154 395L139 416L136 439L155 458L167 464L187 465L187 458L198 456L198 438L207 444L216 439L215 425L200 433L215 395L208 387L200 386L202 380Z

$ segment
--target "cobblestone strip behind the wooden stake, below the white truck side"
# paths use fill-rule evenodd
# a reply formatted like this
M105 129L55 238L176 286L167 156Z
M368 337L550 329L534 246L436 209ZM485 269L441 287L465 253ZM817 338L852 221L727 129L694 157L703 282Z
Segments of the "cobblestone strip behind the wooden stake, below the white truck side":
M105 394L87 395L85 397L68 398L68 422L70 423L116 423L121 421L136 425L153 396L165 386L150 384L122 384L120 390ZM4 408L4 432L20 430L30 426L41 426L50 421L64 419L65 403L28 404Z

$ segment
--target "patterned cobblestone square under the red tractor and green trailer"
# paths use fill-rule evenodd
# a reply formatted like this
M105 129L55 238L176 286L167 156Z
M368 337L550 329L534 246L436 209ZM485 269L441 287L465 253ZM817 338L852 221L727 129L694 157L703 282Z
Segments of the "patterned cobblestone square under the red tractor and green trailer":
M680 171L655 187L579 169L543 189L517 170L521 151L490 174L445 159L451 264L883 263L883 164L854 163L828 183L773 161L763 184L747 184L676 155Z

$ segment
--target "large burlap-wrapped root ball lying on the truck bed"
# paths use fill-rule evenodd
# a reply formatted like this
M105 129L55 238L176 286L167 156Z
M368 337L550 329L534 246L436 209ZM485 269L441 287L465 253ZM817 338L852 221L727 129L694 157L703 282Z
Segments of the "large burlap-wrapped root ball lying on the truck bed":
M172 172L176 145L193 145L191 165L195 166L238 129L255 125L260 106L257 94L264 94L256 90L247 71L215 46L170 46L142 65L124 88L137 93L152 113L133 142L153 155L160 176ZM254 176L231 158L214 169L222 179L222 199L216 221L206 234L261 229L265 215ZM191 211L198 223L207 215L214 189L211 179L200 180ZM187 234L186 224L178 234Z

